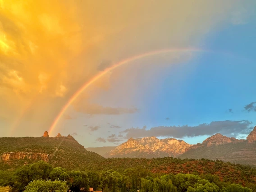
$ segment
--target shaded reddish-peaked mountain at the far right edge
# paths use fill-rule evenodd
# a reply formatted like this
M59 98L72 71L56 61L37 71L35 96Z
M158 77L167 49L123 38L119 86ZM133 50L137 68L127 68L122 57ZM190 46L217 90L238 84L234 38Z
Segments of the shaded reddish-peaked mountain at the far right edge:
M247 140L215 134L202 143L191 146L180 158L224 160L232 163L256 165L256 127Z

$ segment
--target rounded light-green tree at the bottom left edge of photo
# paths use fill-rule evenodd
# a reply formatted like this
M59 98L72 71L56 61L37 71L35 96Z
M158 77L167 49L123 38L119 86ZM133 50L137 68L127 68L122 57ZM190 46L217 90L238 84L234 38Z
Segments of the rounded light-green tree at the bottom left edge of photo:
M65 181L39 179L30 182L24 192L67 192L68 189Z

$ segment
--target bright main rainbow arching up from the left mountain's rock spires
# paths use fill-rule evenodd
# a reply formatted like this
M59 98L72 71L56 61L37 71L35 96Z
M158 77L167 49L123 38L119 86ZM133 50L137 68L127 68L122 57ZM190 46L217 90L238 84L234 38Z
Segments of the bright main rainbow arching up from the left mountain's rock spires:
M89 80L88 82L86 82L85 84L83 84L82 87L80 87L78 89L78 91L76 91L73 96L71 96L71 98L69 99L69 101L62 107L62 109L60 110L59 114L56 116L54 122L51 124L50 129L49 129L49 134L54 130L54 128L56 127L57 123L59 122L59 119L61 118L61 116L64 114L64 112L69 108L69 105L76 100L76 98L82 93L82 91L84 91L87 87L89 87L93 82L95 82L97 79L101 78L103 75L105 75L106 73L110 72L111 70L114 70L116 68L118 68L119 66L123 65L123 64L128 64L129 62L132 62L134 60L137 59L142 59L144 57L147 56L151 56L151 55L157 55L157 54L161 54L161 53L170 53L170 52L201 52L201 51L206 51L206 50L201 50L201 49L197 49L197 48L183 48L183 49L163 49L163 50L155 50L155 51L151 51L151 52L147 52L147 53L143 53L141 55L135 55L133 57L129 57L128 59L123 59L121 60L119 63L116 63L114 65L112 65L110 68L105 69L104 71L98 73L96 76L94 76L93 78L91 78L91 80Z

